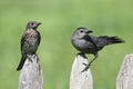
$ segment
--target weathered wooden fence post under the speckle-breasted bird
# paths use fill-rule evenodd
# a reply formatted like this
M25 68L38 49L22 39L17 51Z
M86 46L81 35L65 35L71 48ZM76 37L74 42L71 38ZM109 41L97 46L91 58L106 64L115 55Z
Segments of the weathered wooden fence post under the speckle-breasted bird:
M20 72L18 89L43 89L43 77L38 55L28 55Z

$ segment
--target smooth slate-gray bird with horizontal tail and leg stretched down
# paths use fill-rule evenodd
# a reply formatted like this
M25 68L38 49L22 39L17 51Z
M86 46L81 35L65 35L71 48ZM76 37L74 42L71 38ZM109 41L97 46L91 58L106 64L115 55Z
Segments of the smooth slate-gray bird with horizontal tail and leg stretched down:
M90 36L93 31L89 30L85 27L78 28L71 37L71 42L75 49L78 49L82 55L92 53L94 58L89 62L89 65L83 63L85 67L83 71L86 71L91 63L98 58L98 52L104 48L104 46L121 43L124 42L117 37L100 36L94 37Z

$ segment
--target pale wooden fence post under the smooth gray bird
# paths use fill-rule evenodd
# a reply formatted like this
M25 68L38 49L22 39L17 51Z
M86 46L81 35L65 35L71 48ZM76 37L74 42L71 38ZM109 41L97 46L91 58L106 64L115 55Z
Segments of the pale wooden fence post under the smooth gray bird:
M70 89L93 89L91 70L81 72L85 68L83 63L89 63L86 57L76 55L71 70Z

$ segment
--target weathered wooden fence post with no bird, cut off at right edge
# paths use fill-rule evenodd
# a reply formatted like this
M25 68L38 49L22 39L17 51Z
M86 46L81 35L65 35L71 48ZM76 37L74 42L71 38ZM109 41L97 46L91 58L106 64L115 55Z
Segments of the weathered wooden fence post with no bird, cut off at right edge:
M133 89L133 55L126 55L116 79L116 89Z

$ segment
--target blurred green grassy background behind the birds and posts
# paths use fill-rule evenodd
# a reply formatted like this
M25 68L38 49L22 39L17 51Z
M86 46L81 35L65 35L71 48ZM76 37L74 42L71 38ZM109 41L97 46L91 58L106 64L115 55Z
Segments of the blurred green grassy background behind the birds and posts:
M94 36L123 38L125 43L100 51L91 67L94 89L115 89L123 58L132 53L133 0L0 0L0 89L18 88L20 39L30 20L42 22L38 55L44 89L69 89L78 53L70 41L75 28L84 26Z

